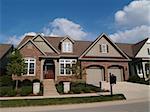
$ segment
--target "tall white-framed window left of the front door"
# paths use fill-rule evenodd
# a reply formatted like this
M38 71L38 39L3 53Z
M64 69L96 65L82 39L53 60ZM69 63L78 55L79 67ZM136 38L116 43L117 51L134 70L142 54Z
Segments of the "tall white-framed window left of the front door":
M25 75L34 76L35 75L35 59L25 58Z

